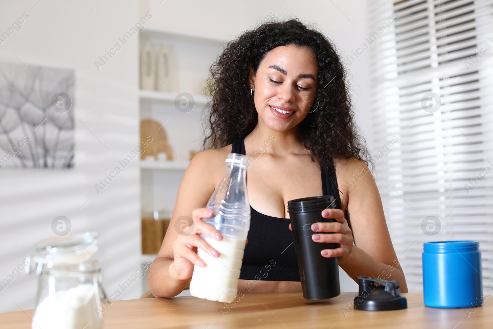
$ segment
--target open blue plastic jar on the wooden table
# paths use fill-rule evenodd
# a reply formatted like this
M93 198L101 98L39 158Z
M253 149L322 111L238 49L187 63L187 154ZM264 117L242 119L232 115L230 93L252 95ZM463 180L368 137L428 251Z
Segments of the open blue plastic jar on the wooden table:
M478 241L439 241L423 245L424 305L477 307L483 303Z

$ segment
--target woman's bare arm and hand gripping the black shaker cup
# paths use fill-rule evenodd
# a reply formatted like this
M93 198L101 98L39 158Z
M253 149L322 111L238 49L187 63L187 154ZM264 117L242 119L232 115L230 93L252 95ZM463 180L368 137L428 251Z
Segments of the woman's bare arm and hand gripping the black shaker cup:
M342 210L324 210L324 218L333 218L337 222L318 223L318 227L312 226L312 230L335 233L314 234L312 238L341 246L322 251L322 256L338 256L339 265L355 282L358 282L357 276L395 279L401 292L407 292L404 272L392 246L380 193L370 170L364 162L356 159L339 162L337 167L338 182L345 182L339 183L339 189L344 190L351 228Z

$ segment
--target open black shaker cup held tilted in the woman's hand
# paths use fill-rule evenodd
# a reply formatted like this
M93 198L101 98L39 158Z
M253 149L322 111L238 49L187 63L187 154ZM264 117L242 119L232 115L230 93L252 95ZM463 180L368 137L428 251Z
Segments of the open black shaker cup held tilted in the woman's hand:
M287 202L303 297L309 300L332 298L341 293L337 257L325 258L320 254L323 249L335 249L339 245L312 240L312 235L316 234L311 228L313 223L336 221L322 217L322 210L327 208L335 208L332 195Z

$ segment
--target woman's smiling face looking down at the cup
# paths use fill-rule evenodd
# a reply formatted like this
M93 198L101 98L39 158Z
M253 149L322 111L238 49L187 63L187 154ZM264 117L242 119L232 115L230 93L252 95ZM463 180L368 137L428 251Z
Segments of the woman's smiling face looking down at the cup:
M289 44L269 51L249 79L259 123L287 131L303 121L317 94L317 73L317 58L306 46Z

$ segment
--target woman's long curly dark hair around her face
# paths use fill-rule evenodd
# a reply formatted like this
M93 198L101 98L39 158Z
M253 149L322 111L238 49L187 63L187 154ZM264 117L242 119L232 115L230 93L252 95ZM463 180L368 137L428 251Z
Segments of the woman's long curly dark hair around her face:
M256 73L270 50L288 44L308 46L317 56L316 100L299 124L303 146L311 151L312 160L317 159L324 168L333 156L373 164L353 123L346 72L339 56L329 40L298 19L263 23L228 42L210 69L212 99L203 147L224 147L255 128L258 114L248 81L250 67Z

